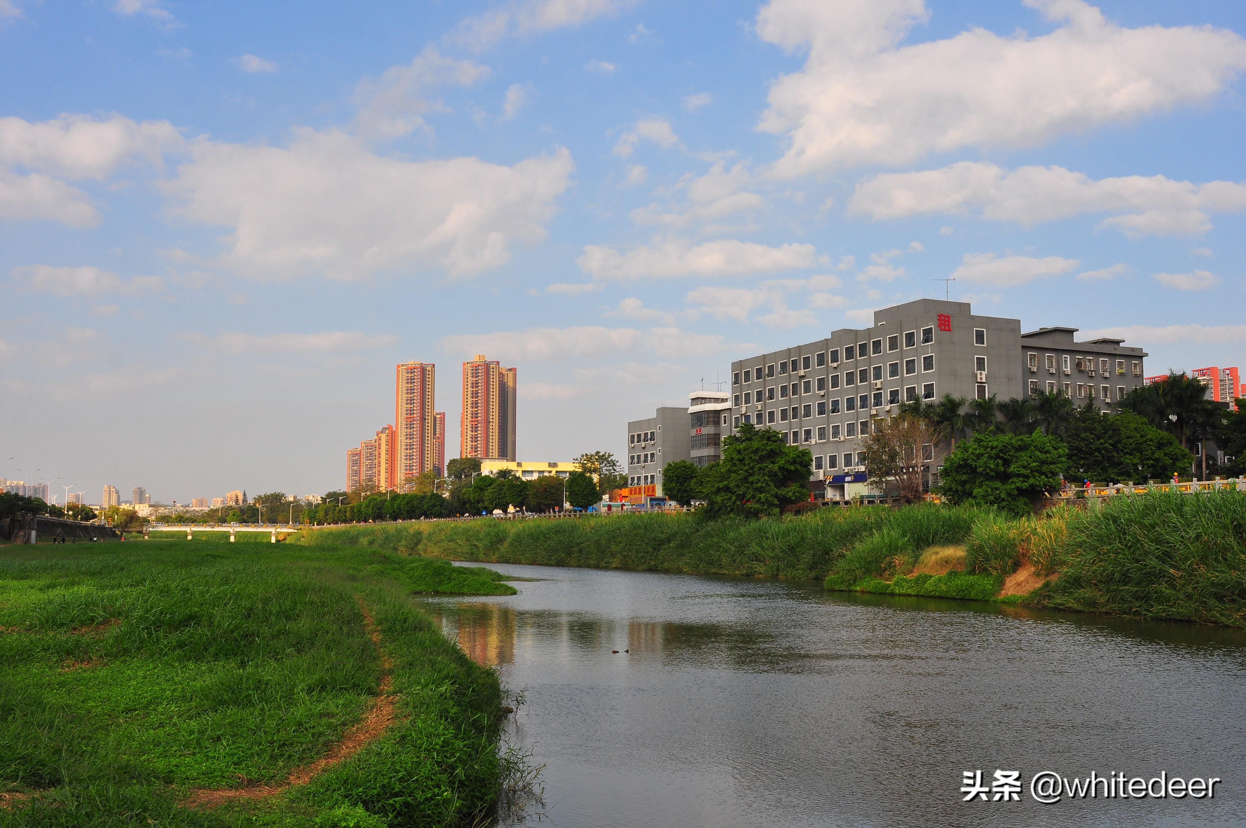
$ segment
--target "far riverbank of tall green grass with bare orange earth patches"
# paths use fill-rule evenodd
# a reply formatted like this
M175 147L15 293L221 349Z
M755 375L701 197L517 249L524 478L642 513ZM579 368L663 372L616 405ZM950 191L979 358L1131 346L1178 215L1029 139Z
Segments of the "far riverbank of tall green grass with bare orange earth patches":
M1246 496L1118 496L1013 519L967 506L778 520L639 514L304 532L452 560L824 580L827 589L1009 600L1246 626Z

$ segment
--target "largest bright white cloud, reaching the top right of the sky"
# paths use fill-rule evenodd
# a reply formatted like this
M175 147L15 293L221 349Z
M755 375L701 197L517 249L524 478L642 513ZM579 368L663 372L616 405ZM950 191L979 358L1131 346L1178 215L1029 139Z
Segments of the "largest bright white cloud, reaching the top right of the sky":
M923 0L771 0L758 34L807 49L770 89L760 128L786 135L780 177L901 165L1055 136L1206 101L1246 69L1246 40L1211 26L1124 29L1082 0L1025 0L1047 35L971 29L900 46Z

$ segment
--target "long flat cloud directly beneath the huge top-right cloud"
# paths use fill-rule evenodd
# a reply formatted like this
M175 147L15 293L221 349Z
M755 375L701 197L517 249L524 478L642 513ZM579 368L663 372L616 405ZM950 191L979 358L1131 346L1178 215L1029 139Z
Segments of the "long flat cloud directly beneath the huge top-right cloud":
M1095 181L1063 167L1020 167L962 161L925 172L883 173L856 187L849 213L901 218L921 213L963 213L1025 226L1080 213L1119 213L1100 227L1130 237L1146 233L1199 236L1211 229L1209 212L1246 209L1246 183L1195 185L1164 176L1124 176Z

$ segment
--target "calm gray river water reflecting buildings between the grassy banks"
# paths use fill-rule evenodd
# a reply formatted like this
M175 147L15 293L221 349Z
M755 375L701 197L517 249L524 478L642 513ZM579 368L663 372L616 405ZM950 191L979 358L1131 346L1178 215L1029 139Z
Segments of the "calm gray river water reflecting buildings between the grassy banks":
M525 824L1246 824L1241 631L495 567L543 580L427 609L526 696L512 736L546 768ZM963 803L978 769L1224 782L1210 801Z

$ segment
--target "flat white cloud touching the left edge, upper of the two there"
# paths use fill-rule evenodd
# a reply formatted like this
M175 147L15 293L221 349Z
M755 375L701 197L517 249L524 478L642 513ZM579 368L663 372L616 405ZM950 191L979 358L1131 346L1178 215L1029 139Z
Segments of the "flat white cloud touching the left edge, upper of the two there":
M136 123L120 115L96 121L87 115L62 115L51 121L0 118L0 165L22 166L69 180L103 181L127 161L159 166L164 153L184 141L168 121Z

